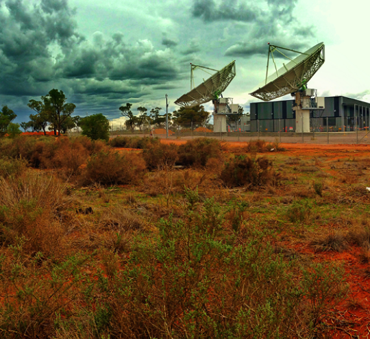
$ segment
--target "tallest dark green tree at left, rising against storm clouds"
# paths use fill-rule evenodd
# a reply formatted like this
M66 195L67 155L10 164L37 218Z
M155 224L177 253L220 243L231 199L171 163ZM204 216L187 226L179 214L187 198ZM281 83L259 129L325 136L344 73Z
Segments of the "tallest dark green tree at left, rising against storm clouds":
M55 129L62 130L62 124L75 111L76 105L74 103L66 103L66 96L62 90L52 89L48 95L41 97L44 101L45 111L49 115L49 122L53 123Z

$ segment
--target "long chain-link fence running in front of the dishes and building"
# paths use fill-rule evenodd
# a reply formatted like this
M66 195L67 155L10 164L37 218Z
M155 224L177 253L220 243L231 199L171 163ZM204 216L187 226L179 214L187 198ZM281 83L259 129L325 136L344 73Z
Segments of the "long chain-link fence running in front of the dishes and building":
M287 121L289 120L289 121ZM256 120L250 124L239 122L225 125L184 123L169 125L168 135L165 125L144 126L141 129L127 129L123 124L111 123L110 134L127 136L157 136L171 140L193 138L217 138L225 141L246 142L263 139L267 142L307 143L307 144L370 144L369 121L361 118L310 118L309 131L305 122L296 131L295 121L275 119ZM339 123L338 123L339 122ZM301 131L304 131L303 133Z

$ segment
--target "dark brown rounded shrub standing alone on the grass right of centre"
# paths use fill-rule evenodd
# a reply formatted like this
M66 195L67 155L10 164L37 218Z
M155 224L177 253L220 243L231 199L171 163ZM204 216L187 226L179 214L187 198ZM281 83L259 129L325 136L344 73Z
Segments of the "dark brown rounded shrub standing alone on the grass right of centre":
M274 171L273 163L267 158L239 155L225 163L220 179L229 187L260 187L277 184L280 175Z

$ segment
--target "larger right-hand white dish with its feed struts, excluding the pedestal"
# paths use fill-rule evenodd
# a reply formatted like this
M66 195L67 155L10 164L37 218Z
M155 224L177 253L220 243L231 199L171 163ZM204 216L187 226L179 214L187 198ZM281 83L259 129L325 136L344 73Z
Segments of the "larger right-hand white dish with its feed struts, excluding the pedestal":
M277 47L274 45L269 45L269 55L271 53L273 58L273 51L278 51L286 58L288 58L284 53L279 51L279 49L285 49L283 47ZM316 46L308 49L308 51L301 53L294 51L293 49L286 49L288 51L293 51L295 53L300 53L297 58L284 64L280 69L276 68L271 76L266 77L264 85L258 90L250 93L254 97L261 99L263 101L270 101L283 95L291 94L297 92L299 88L305 86L305 84L310 80L314 73L321 67L325 61L325 45L320 42ZM274 63L275 60L273 59ZM267 60L267 73L269 70L269 59Z

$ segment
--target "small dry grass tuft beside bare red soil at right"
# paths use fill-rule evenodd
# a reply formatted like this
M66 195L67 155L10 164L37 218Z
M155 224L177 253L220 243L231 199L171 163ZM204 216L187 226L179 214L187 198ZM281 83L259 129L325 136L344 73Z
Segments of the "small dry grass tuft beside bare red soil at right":
M311 240L310 244L315 251L342 252L348 247L348 242L343 231L331 230L328 234L317 234Z

